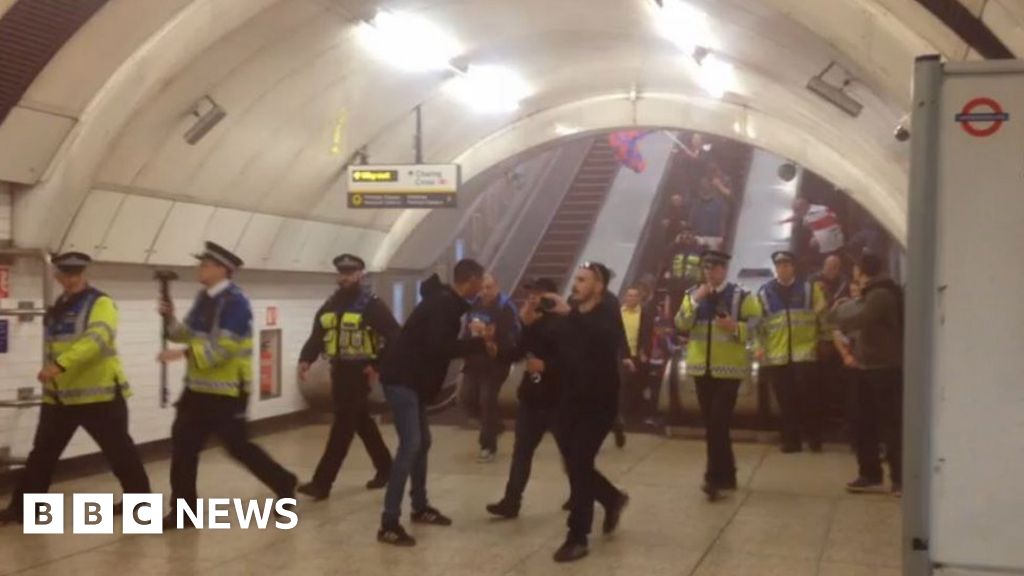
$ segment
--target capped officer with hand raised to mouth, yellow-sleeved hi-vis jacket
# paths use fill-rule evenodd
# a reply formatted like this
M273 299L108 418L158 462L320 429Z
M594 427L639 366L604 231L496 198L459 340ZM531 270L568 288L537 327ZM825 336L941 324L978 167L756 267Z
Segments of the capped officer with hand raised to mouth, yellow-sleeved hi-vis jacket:
M736 488L736 459L729 437L732 411L739 384L751 373L748 323L761 317L757 298L726 282L730 259L725 252L705 252L705 282L683 296L676 315L676 327L689 332L686 374L696 380L707 430L708 467L701 490L711 501L722 491Z

